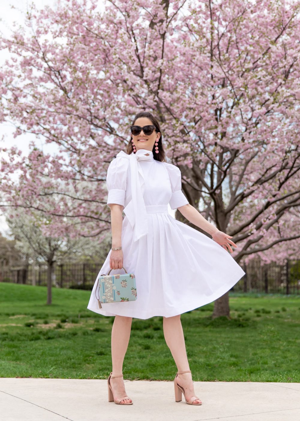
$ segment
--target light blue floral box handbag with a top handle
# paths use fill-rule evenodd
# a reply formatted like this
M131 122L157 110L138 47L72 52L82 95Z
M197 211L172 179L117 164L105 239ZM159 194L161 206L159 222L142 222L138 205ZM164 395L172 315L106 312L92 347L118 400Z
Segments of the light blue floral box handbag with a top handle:
M97 298L97 290L99 298L97 298L99 308L101 303L118 303L121 301L134 301L137 299L137 286L133 273L127 273L122 266L125 274L110 275L111 269L107 275L100 275L98 285L95 290Z

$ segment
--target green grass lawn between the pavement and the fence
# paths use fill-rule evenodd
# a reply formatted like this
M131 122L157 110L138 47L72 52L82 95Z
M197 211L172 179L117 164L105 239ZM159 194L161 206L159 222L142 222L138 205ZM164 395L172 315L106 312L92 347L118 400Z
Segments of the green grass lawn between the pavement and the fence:
M0 283L0 377L107 378L114 317L87 309L90 292ZM213 303L182 314L194 381L300 381L300 296L230 293L231 320ZM173 380L162 317L133 319L123 373Z

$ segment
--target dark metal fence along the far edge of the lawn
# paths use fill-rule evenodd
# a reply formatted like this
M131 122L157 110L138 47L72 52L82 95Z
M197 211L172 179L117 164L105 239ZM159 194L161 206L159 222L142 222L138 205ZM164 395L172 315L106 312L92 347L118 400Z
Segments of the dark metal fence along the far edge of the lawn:
M58 288L92 289L102 263L81 263L56 265L53 270L53 286ZM247 265L241 264L245 275L231 290L241 292L265 292L300 294L300 260L287 260L261 264L253 259ZM0 269L0 282L47 285L47 266L15 269Z

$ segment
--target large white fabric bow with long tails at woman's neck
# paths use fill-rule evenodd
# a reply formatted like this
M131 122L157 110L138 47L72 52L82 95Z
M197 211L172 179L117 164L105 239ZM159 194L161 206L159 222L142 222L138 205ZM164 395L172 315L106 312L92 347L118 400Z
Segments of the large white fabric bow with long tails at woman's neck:
M147 149L138 149L137 152L128 155L121 151L116 155L116 159L119 157L129 159L132 200L124 208L124 213L134 229L134 241L137 241L148 234L147 211L143 198L145 178L138 161L153 161L153 152Z

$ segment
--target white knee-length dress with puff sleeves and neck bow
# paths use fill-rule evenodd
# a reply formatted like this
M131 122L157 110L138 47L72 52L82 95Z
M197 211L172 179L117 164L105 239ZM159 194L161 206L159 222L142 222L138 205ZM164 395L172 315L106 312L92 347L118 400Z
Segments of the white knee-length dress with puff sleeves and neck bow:
M149 156L145 155L149 154ZM110 270L110 254L99 271L87 308L104 316L171 317L211 303L245 274L231 254L196 229L174 219L171 209L186 205L181 172L154 159L153 152L121 151L109 165L107 203L123 205L123 266L134 273L136 301L103 303L95 290ZM112 269L112 274L124 269Z

